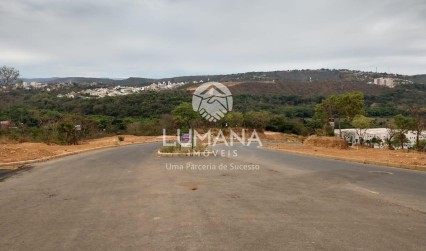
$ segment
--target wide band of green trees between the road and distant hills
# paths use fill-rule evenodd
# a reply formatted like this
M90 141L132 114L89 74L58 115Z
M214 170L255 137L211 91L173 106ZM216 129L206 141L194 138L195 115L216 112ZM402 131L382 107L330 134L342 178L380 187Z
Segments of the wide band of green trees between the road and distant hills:
M158 135L163 128L173 131L190 126L245 127L299 135L331 135L333 127L359 128L361 135L365 128L387 127L393 130L390 142L403 146L405 132L425 129L425 106L395 106L390 96L404 98L398 91L383 97L360 92L329 97L240 94L234 96L234 110L212 124L192 111L192 95L183 89L69 99L56 97L60 90L11 88L18 77L18 70L0 68L0 120L13 124L1 126L0 135L16 141L77 144L88 138L124 133ZM184 119L187 116L190 120ZM417 139L418 148L420 144Z

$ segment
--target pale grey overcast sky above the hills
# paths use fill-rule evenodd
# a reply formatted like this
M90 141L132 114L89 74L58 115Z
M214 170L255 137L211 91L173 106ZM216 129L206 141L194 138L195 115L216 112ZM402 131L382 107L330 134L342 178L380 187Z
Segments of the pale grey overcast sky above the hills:
M426 74L426 1L1 1L0 65L23 77Z

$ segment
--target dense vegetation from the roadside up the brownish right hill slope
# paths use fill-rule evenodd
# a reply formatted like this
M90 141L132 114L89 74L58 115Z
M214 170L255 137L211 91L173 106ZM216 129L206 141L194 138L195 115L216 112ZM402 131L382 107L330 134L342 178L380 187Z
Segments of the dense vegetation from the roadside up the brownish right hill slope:
M339 82L337 80L342 75L334 71L327 73L331 74L330 81L318 75L316 81L297 82L304 76L301 73L287 74L285 76L291 80L283 81L284 75L280 74L271 75L277 77L276 81L230 85L234 109L225 120L214 124L201 119L198 114L191 118L190 124L179 117L176 109L191 102L188 87L127 96L75 99L58 98L57 95L92 86L74 83L50 92L2 88L0 120L10 120L13 126L2 126L0 133L17 141L61 144L75 144L81 139L111 134L158 135L163 128L172 133L178 127L189 126L252 127L303 135L329 134L329 118L335 118L339 128L353 127L356 115L371 118L369 126L387 127L396 115L414 118L414 108L426 107L425 84L389 89L357 81ZM354 92L348 93L350 90ZM356 106L349 102L352 98L357 100ZM345 105L342 102L346 102ZM332 106L335 110L330 110ZM350 106L352 112L349 112ZM339 110L342 107L346 110Z

